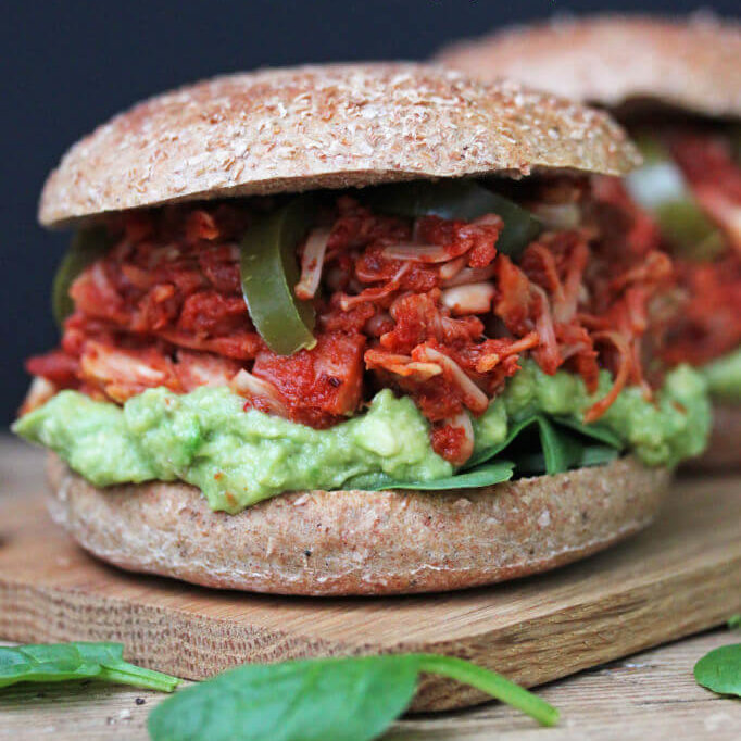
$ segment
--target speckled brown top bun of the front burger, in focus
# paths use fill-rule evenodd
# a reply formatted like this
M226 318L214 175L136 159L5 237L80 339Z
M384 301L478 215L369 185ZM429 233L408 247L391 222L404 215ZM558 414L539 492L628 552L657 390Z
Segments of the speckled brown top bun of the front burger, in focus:
M47 180L46 226L175 201L413 178L638 164L603 113L442 67L262 70L158 96L72 147Z

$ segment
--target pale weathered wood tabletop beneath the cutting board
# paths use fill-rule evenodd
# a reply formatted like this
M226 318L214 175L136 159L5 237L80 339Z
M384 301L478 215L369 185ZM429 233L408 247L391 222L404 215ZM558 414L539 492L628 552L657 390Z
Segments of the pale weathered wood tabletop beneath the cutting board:
M407 717L384 741L738 741L741 701L699 687L692 667L707 651L739 640L717 630L540 688L561 711L555 728L488 703ZM147 716L166 696L96 682L16 686L0 694L0 740L146 741Z

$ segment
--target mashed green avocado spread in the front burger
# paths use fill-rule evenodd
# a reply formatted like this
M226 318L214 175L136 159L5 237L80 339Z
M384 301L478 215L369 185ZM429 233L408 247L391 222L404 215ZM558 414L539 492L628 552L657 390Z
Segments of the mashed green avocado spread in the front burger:
M474 420L476 450L502 442L518 417L532 412L581 419L610 388L604 373L590 395L581 379L543 374L532 361ZM351 479L387 474L395 481L451 476L429 443L429 426L411 399L385 389L365 414L316 430L256 410L227 388L176 394L151 389L123 407L62 391L18 419L13 430L59 453L96 486L183 480L200 488L213 510L236 513L299 489L341 489ZM675 465L702 452L709 404L702 376L671 372L654 403L624 389L600 425L648 465Z

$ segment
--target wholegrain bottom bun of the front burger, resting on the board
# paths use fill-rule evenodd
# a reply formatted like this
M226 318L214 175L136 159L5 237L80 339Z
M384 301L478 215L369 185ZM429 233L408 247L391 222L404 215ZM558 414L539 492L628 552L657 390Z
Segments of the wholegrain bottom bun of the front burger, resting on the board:
M441 492L307 491L237 515L185 483L98 489L52 456L49 510L83 548L134 572L277 594L463 589L543 572L645 527L670 473L632 457Z

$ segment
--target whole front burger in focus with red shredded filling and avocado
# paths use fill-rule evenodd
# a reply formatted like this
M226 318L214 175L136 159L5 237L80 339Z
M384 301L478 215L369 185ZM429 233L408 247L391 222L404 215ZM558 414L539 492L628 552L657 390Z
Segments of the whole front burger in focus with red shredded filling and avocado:
M76 143L56 349L14 430L126 569L289 594L541 572L655 516L702 377L655 373L670 259L590 175L601 112L441 67L219 77ZM658 309L657 309L658 306Z

